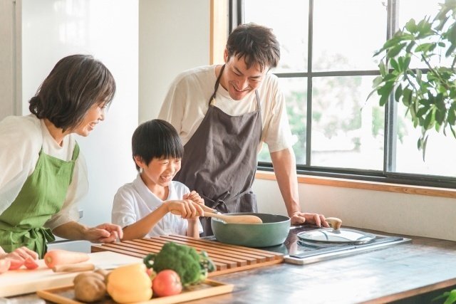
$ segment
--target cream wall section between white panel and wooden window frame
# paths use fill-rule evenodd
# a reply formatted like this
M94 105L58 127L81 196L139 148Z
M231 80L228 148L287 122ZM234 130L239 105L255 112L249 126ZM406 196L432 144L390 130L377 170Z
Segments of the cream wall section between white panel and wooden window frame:
M140 122L157 117L178 73L209 64L209 17L209 0L140 0Z

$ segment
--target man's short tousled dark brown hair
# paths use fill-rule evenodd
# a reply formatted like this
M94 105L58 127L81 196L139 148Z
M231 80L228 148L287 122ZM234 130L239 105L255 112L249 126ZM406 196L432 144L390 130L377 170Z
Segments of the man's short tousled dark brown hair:
M246 23L234 28L227 41L228 58L244 57L247 68L258 63L261 70L275 68L280 60L280 45L271 28Z

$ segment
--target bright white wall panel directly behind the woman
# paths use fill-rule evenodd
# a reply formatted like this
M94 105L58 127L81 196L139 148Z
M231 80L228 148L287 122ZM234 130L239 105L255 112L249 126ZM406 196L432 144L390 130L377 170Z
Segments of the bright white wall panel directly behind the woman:
M81 222L109 222L115 192L136 175L131 135L138 125L138 1L17 1L22 6L21 114L28 114L28 99L64 56L92 54L113 73L117 91L105 121L77 139L89 179Z

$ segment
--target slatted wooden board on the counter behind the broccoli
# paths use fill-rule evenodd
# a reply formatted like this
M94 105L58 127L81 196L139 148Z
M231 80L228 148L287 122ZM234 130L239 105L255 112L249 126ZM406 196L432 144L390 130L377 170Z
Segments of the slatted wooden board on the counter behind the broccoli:
M158 253L162 246L170 241L192 246L198 252L203 250L206 251L217 268L216 271L209 273L209 277L218 276L223 273L232 273L234 271L268 266L284 261L283 253L235 246L205 239L195 239L190 236L174 235L93 245L91 251L114 251L129 256L144 258L148 253Z

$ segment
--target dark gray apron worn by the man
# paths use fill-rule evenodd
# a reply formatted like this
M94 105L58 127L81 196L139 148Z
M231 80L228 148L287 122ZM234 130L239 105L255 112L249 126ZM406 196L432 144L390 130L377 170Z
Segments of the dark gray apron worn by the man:
M195 190L204 203L222 213L257 212L251 187L257 171L261 140L259 94L257 110L231 116L212 105L224 66L209 99L201 125L185 145L182 167L175 180ZM212 236L210 218L202 217L202 236Z

